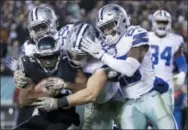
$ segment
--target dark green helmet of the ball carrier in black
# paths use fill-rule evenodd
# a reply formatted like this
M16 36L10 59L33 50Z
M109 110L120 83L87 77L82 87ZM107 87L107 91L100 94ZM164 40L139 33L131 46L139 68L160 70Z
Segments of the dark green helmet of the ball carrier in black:
M38 40L33 56L46 73L57 70L62 55L61 45L51 36L45 36Z

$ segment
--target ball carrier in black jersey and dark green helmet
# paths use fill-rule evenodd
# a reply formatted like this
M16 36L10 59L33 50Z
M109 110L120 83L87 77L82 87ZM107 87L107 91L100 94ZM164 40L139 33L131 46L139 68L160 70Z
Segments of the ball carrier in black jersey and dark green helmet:
M62 56L60 46L61 45L54 40L53 37L43 37L36 44L33 56L21 57L22 64L20 70L22 71L16 74L26 76L29 80L27 81L29 84L20 88L20 105L29 106L34 101L46 96L53 97L55 100L48 98L48 100L46 100L47 103L43 102L43 105L46 105L45 107L38 107L39 115L32 116L29 120L15 128L15 130L62 130L69 128L72 124L76 126L79 125L79 116L75 112L75 107L66 109L59 107L59 109L48 111L51 107L58 106L58 99L69 94L69 90L71 90L71 92L77 91L86 84L86 78L81 71L72 68L67 58ZM63 79L65 82L59 82L57 78ZM16 79L15 82L17 81L20 81L20 79ZM39 88L43 87L42 90L46 91L38 90L37 86L39 86ZM54 104L54 101L57 101L56 106L51 105Z

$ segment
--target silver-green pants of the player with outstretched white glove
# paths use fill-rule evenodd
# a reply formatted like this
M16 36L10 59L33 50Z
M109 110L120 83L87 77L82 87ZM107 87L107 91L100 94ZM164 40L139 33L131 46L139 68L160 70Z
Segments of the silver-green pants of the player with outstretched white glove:
M128 100L120 113L121 129L146 129L148 119L157 129L176 128L168 106L157 91Z

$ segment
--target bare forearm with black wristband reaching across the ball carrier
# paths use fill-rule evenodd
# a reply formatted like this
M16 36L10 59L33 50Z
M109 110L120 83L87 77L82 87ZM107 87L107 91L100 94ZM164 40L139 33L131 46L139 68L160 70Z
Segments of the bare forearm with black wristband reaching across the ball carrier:
M69 107L96 101L107 81L105 71L97 70L87 81L85 89L57 100L58 107Z

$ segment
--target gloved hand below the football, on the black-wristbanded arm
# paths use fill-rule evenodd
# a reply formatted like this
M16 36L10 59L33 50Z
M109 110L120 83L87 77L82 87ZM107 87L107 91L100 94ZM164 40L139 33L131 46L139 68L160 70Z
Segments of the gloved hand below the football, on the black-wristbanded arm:
M57 99L51 97L38 98L37 101L35 101L31 105L47 112L56 110L58 108Z

